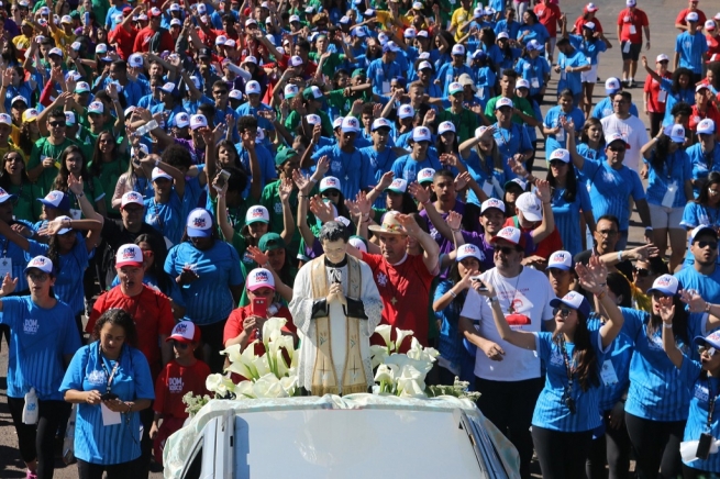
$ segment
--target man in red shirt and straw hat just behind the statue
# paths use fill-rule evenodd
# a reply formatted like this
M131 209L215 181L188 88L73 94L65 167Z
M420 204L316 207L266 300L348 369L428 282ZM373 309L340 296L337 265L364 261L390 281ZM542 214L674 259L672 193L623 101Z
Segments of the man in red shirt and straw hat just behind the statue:
M380 241L381 254L362 253L352 246L347 247L347 253L367 263L373 270L383 299L380 324L411 330L420 344L428 346L430 285L440 272L440 247L409 214L387 213L381 226L369 226L369 230ZM420 244L422 255L408 255L411 238ZM370 344L385 343L375 334ZM400 353L409 347L410 342L403 343Z

